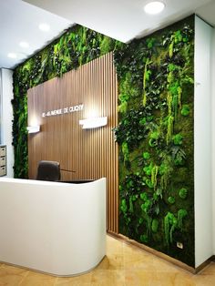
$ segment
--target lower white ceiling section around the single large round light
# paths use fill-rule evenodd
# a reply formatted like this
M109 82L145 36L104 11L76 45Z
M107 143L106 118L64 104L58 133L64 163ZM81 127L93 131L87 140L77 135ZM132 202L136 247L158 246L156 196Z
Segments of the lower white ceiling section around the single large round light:
M128 42L136 36L146 36L197 11L214 0L162 0L165 10L159 15L147 15L144 5L151 0L24 0L61 15L82 26ZM215 9L213 5L213 12ZM212 21L215 24L215 17Z

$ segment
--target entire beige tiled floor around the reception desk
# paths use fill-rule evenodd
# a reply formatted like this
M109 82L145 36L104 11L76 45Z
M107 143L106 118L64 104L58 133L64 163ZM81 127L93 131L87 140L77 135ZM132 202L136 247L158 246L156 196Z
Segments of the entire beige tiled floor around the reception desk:
M56 278L0 264L0 285L7 286L215 286L215 263L192 275L144 250L107 236L107 257L97 269L72 278Z

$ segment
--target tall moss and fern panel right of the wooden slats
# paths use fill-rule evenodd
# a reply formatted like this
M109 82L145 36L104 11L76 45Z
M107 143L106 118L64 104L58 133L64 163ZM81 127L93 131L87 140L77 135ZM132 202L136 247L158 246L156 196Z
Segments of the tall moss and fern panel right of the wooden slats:
M191 266L193 50L191 16L115 52L119 231Z

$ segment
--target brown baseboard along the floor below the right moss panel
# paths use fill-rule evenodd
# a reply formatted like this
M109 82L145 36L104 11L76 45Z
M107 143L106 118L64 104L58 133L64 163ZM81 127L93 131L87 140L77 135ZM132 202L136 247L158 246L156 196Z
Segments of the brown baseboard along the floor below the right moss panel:
M199 271L201 271L203 268L205 268L208 264L210 264L211 260L215 260L215 255L213 255L213 256L211 256L211 258L209 260L206 260L205 262L200 264L199 267L193 268L193 267L187 265L184 262L181 262L179 260L176 260L176 259L170 257L167 254L159 252L158 250L153 250L153 249L149 248L148 246L146 246L144 244L138 243L135 240L130 240L130 239L128 239L128 237L126 237L126 236L124 236L122 234L118 234L118 233L112 232L110 230L107 230L107 234L112 236L112 237L114 237L114 238L116 238L117 240L122 240L122 241L124 241L125 243L127 243L127 244L129 244L131 246L138 247L138 249L146 250L149 253L151 253L151 254L153 254L153 255L155 255L155 256L163 259L163 260L166 260L166 261L168 261L168 262L178 266L179 268L182 268L183 270L189 271L192 274L197 274Z

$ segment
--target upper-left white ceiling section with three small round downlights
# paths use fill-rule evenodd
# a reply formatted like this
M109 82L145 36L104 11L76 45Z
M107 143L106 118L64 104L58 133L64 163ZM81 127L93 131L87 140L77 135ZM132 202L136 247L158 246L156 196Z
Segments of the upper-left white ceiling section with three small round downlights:
M50 31L40 31L38 25L41 23L49 24ZM46 46L68 26L72 26L70 20L21 0L0 0L0 67L13 68ZM21 41L28 42L29 47L19 46ZM17 58L7 57L8 53L16 53Z

